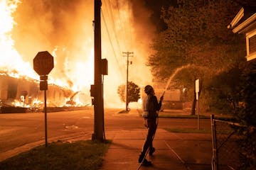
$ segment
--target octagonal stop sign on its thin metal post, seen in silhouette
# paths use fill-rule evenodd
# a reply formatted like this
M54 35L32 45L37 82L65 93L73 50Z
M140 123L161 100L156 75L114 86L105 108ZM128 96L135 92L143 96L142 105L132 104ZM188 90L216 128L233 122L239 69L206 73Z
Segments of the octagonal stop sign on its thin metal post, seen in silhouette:
M45 139L47 142L47 107L46 107L46 90L48 89L48 74L53 69L53 56L48 51L38 52L33 59L33 69L40 75L40 90L44 91L44 113L45 113Z

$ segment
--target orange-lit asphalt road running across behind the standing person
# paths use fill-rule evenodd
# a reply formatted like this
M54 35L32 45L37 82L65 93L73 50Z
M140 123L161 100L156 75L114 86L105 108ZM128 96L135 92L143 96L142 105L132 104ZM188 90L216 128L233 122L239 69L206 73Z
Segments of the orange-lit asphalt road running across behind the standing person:
M118 113L120 109L105 109L105 130L132 130L144 128L137 111ZM0 114L0 153L31 142L44 140L44 113ZM94 111L48 113L48 138L84 132L91 135L94 127ZM191 118L159 118L159 128L197 128L197 120ZM201 128L210 129L210 120L201 120ZM107 137L106 137L107 138Z

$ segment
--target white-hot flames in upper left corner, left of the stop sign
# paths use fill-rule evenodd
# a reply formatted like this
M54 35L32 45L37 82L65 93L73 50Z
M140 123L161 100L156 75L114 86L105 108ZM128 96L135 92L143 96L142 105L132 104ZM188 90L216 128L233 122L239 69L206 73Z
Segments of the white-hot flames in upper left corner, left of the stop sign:
M11 30L14 28L14 18L11 16L16 11L20 1L0 1L0 68L9 76L19 78L21 75L36 78L31 65L23 62L21 55L14 48L14 40L11 38Z

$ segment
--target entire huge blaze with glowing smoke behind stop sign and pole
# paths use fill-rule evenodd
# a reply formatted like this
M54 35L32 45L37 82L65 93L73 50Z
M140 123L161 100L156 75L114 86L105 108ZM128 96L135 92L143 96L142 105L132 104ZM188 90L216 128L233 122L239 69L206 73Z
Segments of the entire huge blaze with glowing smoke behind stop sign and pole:
M33 57L47 50L55 62L48 76L49 84L73 91L58 106L70 101L77 91L80 93L72 98L75 103L79 106L90 103L90 84L94 79L93 5L90 0L0 0L0 74L38 80L33 71ZM117 94L117 87L126 82L127 58L122 52L134 52L134 57L129 59L132 60L129 81L139 86L151 82L145 62L153 29L146 18L149 11L143 9L142 14L146 14L143 23L135 21L131 2L102 1L102 58L107 58L109 69L104 78L106 107L124 108L125 105ZM26 106L25 99L28 100L21 96L13 102L16 106ZM41 103L36 97L33 100L31 105Z

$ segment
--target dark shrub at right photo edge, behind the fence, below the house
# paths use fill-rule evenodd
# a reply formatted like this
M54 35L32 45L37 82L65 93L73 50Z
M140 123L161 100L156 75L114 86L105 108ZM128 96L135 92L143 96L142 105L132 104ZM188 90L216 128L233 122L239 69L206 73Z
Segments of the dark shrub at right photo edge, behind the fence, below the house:
M256 64L250 63L245 69L241 90L242 106L234 114L243 127L238 128L242 135L240 146L242 164L240 169L256 167Z

